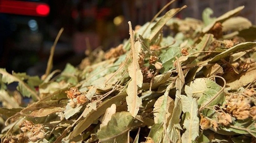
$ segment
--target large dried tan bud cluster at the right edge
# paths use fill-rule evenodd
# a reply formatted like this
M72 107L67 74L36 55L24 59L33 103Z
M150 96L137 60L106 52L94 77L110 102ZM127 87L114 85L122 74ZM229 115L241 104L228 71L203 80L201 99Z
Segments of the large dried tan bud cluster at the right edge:
M256 96L254 89L246 89L243 93L231 94L226 97L226 110L239 120L251 117L256 120L256 106L251 103L251 97Z

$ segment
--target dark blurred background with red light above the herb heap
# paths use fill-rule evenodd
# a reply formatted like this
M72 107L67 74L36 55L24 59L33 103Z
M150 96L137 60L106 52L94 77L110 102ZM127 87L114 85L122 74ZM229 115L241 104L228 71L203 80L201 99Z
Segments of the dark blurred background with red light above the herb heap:
M44 74L50 48L64 31L54 54L54 68L77 65L92 49L118 46L129 38L128 21L143 25L169 0L0 0L0 67L7 71ZM171 8L187 5L178 18L201 19L206 7L213 16L244 5L240 15L256 23L256 0L176 0ZM87 42L88 43L88 42Z

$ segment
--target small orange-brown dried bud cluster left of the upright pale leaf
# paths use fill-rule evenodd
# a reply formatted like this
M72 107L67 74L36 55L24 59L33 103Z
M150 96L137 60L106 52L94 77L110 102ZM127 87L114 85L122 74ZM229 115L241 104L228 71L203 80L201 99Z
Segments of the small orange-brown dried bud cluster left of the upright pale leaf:
M77 87L71 87L70 90L65 91L65 93L67 93L67 97L71 99L68 105L72 108L74 108L76 104L84 104L88 101L85 94L82 94Z

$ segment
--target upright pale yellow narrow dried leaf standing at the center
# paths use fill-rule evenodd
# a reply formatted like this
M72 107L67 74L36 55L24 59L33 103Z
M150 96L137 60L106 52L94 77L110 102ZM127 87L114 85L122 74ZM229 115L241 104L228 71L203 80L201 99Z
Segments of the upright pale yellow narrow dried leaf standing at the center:
M138 86L141 87L143 82L143 75L141 73L138 62L139 49L141 49L141 44L139 41L134 44L134 32L132 30L132 25L130 21L128 23L130 26L129 31L133 61L129 64L128 67L129 76L132 78L132 81L128 83L128 87L126 89L128 94L126 97L126 102L128 105L128 111L132 114L133 117L135 117L138 114L140 105L142 104L141 99L139 96L137 96Z

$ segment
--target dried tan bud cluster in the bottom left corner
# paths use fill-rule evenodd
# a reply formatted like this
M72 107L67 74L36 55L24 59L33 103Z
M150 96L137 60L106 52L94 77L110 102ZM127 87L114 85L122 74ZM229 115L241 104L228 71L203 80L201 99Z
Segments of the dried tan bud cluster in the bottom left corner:
M25 132L31 142L36 142L38 139L42 139L45 136L45 130L43 124L33 124L32 121L24 120L24 127L20 128Z

